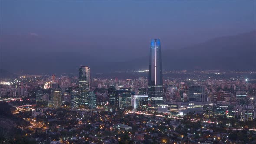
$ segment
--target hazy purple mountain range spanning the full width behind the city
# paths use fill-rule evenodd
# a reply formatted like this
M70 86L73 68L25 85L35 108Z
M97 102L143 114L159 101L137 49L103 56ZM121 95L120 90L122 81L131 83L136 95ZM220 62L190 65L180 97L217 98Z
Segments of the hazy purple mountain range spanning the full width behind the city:
M15 37L10 37L15 38ZM80 65L88 65L92 72L138 71L148 69L148 50L143 47L141 57L125 54L127 49L116 52L113 49L103 52L80 52L77 49L70 51L44 50L39 45L37 37L16 37L20 42L12 43L9 39L3 40L1 45L1 69L10 72L24 71L25 73L72 73L78 72ZM186 37L184 36L184 39ZM14 39L15 40L15 39ZM26 49L14 48L27 44ZM161 42L163 44L163 42ZM16 45L14 45L16 44ZM65 46L65 45L64 45ZM86 47L85 47L86 48ZM29 50L28 50L29 49ZM138 48L137 48L138 49ZM142 48L140 49L140 51ZM133 53L136 50L132 49ZM120 55L120 52L121 55ZM131 53L131 52L130 52ZM144 54L144 55L143 55ZM123 62L114 59L113 55L123 56ZM119 56L119 57L120 57ZM121 58L122 59L122 58ZM127 60L129 59L129 60ZM210 39L203 43L184 48L163 48L163 70L253 70L256 71L256 31L234 36L223 36ZM1 71L1 76L8 72Z

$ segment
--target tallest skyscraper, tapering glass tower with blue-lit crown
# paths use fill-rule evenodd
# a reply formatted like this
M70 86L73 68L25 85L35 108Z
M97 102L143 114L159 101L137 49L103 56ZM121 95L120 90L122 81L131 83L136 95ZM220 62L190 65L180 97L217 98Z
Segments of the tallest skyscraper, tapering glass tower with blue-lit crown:
M157 107L164 101L160 39L152 39L148 72L148 106Z

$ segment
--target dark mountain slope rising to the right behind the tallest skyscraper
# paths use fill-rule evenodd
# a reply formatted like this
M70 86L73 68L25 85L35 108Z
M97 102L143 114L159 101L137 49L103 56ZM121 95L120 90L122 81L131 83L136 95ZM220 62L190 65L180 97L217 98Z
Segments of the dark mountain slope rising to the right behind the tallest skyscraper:
M149 56L108 64L111 70L148 69ZM256 31L162 51L164 70L256 70Z

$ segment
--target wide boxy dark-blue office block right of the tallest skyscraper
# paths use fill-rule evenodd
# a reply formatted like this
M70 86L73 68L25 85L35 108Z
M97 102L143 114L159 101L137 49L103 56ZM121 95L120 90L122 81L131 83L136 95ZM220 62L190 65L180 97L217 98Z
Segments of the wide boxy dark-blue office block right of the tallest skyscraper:
M188 101L190 102L207 102L207 95L205 95L204 87L200 85L189 86Z

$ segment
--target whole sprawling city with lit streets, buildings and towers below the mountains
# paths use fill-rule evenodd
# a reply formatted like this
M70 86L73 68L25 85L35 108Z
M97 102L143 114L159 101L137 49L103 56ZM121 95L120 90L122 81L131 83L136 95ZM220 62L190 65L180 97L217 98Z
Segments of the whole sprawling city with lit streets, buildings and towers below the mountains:
M163 71L160 39L137 78L77 71L1 78L0 143L256 143L256 72Z

